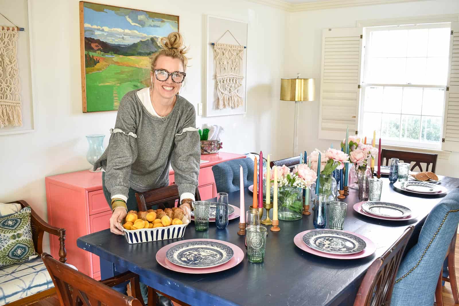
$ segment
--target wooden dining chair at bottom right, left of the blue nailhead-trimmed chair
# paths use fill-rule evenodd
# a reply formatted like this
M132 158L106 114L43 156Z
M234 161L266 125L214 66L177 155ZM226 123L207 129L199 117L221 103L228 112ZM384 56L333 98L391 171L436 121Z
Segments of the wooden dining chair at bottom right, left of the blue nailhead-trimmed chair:
M413 234L410 225L402 236L368 268L354 300L354 306L390 306L392 288L402 260L403 251Z

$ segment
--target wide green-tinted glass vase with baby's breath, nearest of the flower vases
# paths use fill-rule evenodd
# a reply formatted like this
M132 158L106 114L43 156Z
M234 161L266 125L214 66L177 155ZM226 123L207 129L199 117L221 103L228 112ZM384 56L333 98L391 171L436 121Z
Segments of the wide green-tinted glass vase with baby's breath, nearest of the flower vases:
M277 217L282 221L301 219L303 211L303 189L282 186L277 192Z

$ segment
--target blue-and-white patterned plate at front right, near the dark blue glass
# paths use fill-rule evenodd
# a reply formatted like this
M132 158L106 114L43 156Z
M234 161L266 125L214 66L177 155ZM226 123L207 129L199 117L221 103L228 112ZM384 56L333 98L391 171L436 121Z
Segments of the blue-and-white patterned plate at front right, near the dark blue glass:
M355 254L367 246L363 239L353 234L323 229L304 234L303 242L313 250L338 255Z

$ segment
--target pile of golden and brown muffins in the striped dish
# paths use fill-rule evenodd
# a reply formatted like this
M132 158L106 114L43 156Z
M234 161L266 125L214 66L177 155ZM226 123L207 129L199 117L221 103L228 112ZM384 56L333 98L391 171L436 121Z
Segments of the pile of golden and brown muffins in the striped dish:
M164 210L129 211L124 220L123 227L128 230L135 230L188 224L189 222L186 212L181 208L174 207Z

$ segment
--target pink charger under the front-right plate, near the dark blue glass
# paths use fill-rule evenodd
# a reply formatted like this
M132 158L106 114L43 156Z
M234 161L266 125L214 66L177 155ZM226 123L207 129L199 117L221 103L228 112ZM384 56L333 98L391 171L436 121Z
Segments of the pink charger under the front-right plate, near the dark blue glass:
M355 254L347 254L347 255L337 255L337 254L329 254L329 253L324 253L324 252L320 252L320 251L316 251L316 250L313 250L311 249L310 247L308 247L304 241L303 241L303 236L304 234L307 234L309 232L312 232L312 231L315 231L316 229L310 229L308 231L304 231L304 232L301 232L301 233L298 233L295 238L293 238L293 242L295 243L295 245L297 247L299 247L300 249L302 249L303 251L306 251L310 254L314 254L314 255L317 255L317 256L320 256L320 257L325 257L325 258L333 258L333 259L357 259L357 258L363 258L363 257L367 257L367 256L370 256L372 255L373 253L375 253L375 250L376 250L376 245L373 241L371 241L370 239L368 239L367 237L365 236L362 236L362 235L359 235L359 234L356 234L356 233L352 233L352 232L348 232L348 231L340 231L340 230L337 230L337 229L333 229L334 231L337 231L337 232L343 232L343 233L347 233L347 234L353 234L361 239L363 239L365 241L365 243L367 244L367 246L365 247L364 250L358 252L358 253L355 253Z

